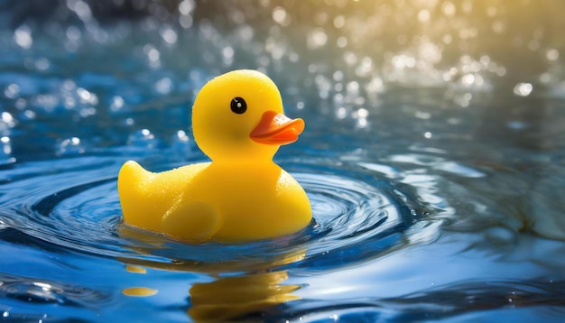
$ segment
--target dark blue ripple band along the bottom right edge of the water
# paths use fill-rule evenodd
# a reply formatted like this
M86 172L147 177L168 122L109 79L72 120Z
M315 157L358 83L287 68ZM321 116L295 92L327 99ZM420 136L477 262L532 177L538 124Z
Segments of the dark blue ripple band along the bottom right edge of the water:
M460 281L450 286L418 291L392 299L366 298L359 300L312 300L294 303L281 318L308 322L413 321L415 318L467 321L493 309L553 308L555 316L565 305L563 281ZM476 315L470 312L476 311ZM292 313L292 314L289 314ZM273 313L277 318L278 313ZM521 311L502 312L502 320L536 320L524 318ZM487 314L486 314L487 315ZM547 313L546 313L547 315ZM548 315L549 317L549 315ZM294 319L293 319L294 318ZM334 319L329 319L334 318ZM499 317L500 318L500 317ZM417 320L417 319L416 319Z

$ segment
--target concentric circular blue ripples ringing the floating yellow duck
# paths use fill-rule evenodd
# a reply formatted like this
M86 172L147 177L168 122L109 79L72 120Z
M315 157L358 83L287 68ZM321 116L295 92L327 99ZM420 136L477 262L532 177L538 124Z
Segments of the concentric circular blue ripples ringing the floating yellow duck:
M5 179L0 228L12 228L21 233L18 239L39 239L53 248L157 268L210 272L222 263L221 270L228 272L277 266L329 270L403 245L407 230L424 216L411 207L418 204L413 192L390 180L353 170L329 174L330 168L320 173L318 166L290 165L311 201L310 226L294 235L241 245L185 245L122 223L116 192L121 162L77 157L23 164L13 179ZM175 166L161 163L156 168ZM24 176L24 169L31 175ZM420 233L431 227L425 223L419 225Z

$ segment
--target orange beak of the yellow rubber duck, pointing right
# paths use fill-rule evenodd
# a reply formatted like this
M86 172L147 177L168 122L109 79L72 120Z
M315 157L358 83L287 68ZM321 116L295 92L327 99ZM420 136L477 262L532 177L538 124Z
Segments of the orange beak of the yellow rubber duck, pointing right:
M298 140L298 135L304 130L304 120L291 119L274 111L266 111L259 125L249 134L257 143L286 144Z

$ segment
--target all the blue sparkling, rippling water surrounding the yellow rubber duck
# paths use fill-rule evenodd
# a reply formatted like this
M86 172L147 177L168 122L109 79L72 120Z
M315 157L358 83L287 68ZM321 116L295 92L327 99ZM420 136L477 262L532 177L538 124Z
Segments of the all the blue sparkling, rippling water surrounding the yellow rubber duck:
M563 9L0 1L0 320L563 321ZM310 226L123 224L122 163L205 161L190 106L242 68L306 122L275 161Z

